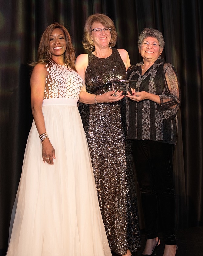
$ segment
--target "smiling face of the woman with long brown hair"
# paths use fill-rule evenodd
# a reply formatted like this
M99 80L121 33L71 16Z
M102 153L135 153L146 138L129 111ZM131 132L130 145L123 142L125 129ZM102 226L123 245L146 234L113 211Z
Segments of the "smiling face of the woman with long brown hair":
M66 50L65 35L61 29L54 29L49 39L49 50L52 58L63 56Z

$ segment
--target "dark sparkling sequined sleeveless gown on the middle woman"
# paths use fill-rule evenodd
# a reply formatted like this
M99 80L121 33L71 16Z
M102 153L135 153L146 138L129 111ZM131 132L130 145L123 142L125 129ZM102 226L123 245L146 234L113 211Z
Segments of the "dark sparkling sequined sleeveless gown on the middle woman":
M117 49L108 58L88 54L86 90L103 94L111 80L126 80ZM140 247L130 141L126 140L125 98L115 103L79 105L90 150L98 200L110 249L117 254Z

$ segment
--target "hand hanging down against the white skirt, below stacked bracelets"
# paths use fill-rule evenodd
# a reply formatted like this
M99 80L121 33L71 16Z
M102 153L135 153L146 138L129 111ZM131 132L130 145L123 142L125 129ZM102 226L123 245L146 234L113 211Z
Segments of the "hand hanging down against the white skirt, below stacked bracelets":
M56 159L55 149L53 148L49 138L45 139L42 142L42 159L44 163L47 162L49 165L53 165L53 159Z

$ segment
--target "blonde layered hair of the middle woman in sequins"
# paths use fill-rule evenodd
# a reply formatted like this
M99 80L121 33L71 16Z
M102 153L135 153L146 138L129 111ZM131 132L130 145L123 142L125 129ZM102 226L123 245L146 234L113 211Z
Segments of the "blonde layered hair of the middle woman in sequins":
M111 40L109 44L111 47L114 47L117 41L117 35L116 28L114 25L114 22L112 19L110 19L107 15L103 13L95 13L90 15L86 22L84 27L84 34L83 34L83 47L84 49L92 52L92 46L94 46L94 41L91 39L91 33L92 33L92 24L94 22L101 23L105 28L111 28Z

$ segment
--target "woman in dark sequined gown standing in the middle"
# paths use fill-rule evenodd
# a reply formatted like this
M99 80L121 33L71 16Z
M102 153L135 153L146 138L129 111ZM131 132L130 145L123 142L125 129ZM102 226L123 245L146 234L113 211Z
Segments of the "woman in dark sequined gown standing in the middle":
M126 140L125 99L121 92L112 96L111 85L111 80L127 79L130 60L126 50L111 48L116 39L108 16L91 15L83 40L90 53L79 55L75 65L86 84L79 97L79 111L108 242L115 253L131 255L140 247L131 145Z

